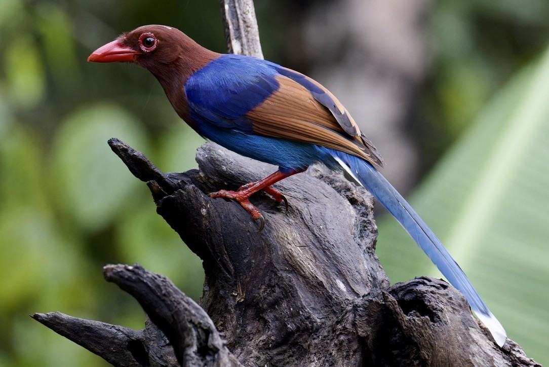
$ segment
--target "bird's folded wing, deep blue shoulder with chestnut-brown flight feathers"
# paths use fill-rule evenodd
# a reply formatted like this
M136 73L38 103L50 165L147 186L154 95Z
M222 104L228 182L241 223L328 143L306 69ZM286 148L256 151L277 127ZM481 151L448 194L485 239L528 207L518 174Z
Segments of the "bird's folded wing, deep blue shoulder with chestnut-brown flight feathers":
M215 128L326 146L383 164L376 148L332 93L280 65L221 55L191 75L185 91L199 134L222 145L220 135L229 133ZM236 144L232 140L225 146L234 150ZM264 160L253 152L245 155Z

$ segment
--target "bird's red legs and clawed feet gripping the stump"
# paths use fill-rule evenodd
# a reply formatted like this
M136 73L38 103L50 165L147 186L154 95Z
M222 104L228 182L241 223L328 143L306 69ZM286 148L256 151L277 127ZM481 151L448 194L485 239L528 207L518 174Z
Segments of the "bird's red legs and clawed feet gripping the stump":
M265 225L265 219L263 218L263 215L261 215L259 209L257 209L256 207L254 207L253 204L250 203L250 196L252 196L257 191L263 190L266 193L270 194L273 198L275 198L278 203L284 201L286 203L286 210L288 210L288 201L286 200L284 195L281 192L273 189L271 185L285 179L286 177L295 175L302 171L304 170L291 171L290 173L282 173L281 171L276 171L272 175L269 175L260 181L251 182L250 184L240 187L238 191L220 190L210 193L210 197L236 200L248 213L251 214L251 218L253 218L254 220L261 220L261 226L259 228L259 230L261 231Z

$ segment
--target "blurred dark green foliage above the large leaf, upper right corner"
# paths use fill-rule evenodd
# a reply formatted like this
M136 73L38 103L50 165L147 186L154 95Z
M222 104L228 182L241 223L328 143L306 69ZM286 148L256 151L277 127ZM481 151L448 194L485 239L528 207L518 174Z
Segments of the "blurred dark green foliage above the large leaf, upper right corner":
M434 59L409 132L423 171L472 123L489 98L549 40L545 0L433 3L428 37Z

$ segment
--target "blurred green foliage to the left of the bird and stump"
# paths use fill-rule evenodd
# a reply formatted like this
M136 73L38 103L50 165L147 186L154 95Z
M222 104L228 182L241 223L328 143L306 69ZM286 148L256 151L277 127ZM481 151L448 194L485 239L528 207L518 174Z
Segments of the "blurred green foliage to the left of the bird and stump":
M142 310L104 282L104 264L139 262L200 297L200 260L107 140L138 147L166 171L195 166L203 141L144 70L86 63L144 23L184 25L225 48L215 1L0 2L10 40L0 54L0 365L106 365L29 318L60 310L141 329Z

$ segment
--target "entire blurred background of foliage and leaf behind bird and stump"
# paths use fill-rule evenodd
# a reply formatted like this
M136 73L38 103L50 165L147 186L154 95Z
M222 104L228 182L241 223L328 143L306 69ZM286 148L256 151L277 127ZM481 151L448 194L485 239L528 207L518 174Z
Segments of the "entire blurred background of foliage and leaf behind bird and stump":
M256 13L265 58L338 96L508 336L549 363L549 3L257 0ZM199 259L107 139L163 171L196 166L203 141L152 75L86 63L144 24L226 50L216 0L0 1L0 365L107 365L28 316L142 329L107 263L139 262L200 297ZM391 281L440 277L378 218Z

